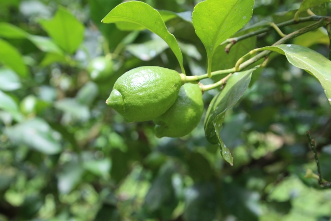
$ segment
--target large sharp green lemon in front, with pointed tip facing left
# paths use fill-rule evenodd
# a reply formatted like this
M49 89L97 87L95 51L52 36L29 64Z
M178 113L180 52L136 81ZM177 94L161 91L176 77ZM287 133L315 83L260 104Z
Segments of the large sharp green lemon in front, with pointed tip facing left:
M181 85L181 76L175 70L137 67L117 79L106 104L127 122L152 120L175 103Z

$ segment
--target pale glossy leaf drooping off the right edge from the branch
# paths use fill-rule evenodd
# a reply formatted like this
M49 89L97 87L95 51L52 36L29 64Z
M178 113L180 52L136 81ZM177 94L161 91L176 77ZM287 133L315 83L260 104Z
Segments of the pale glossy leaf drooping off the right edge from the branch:
M266 50L285 55L294 66L306 70L317 78L324 88L328 102L331 104L331 61L323 55L295 44L280 44L277 46L263 47Z

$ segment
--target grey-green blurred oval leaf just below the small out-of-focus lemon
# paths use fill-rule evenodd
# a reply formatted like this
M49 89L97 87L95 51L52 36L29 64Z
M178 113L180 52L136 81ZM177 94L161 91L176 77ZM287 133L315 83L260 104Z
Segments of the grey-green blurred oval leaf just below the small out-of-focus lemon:
M90 106L98 95L98 85L92 81L86 83L79 89L76 95L76 100L81 105Z

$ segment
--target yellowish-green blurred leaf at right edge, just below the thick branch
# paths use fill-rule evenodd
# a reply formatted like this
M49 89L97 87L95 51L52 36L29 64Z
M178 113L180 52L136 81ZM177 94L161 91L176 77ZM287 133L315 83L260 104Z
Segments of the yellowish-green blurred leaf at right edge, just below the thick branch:
M321 27L294 38L293 43L304 47L310 47L314 44L329 45L330 40L328 38L327 31Z

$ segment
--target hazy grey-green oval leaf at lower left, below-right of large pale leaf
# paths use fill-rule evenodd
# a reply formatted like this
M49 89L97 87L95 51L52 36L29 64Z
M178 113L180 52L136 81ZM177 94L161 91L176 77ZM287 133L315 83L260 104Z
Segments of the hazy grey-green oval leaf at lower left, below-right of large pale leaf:
M80 182L84 168L77 159L65 164L58 173L58 189L61 193L68 194Z

